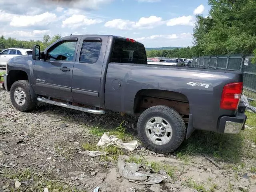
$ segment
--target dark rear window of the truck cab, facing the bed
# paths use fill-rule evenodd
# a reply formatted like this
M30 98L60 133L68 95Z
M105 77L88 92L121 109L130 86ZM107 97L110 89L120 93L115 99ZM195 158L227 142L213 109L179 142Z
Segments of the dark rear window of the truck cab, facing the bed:
M116 37L110 62L147 64L145 47L134 40Z

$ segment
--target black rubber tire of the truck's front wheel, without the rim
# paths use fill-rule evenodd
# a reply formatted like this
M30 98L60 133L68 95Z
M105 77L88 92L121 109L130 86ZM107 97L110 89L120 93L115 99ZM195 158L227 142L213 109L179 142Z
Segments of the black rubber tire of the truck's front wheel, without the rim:
M14 92L16 90L16 88L22 88L26 94L26 101L24 102L23 105L19 105L18 103L16 103L15 99L14 99ZM10 98L11 98L11 102L12 105L14 106L14 108L16 108L19 111L31 111L35 108L36 103L32 102L32 98L30 95L30 90L29 90L29 82L27 80L20 80L20 81L16 81L12 84L11 90L10 90Z

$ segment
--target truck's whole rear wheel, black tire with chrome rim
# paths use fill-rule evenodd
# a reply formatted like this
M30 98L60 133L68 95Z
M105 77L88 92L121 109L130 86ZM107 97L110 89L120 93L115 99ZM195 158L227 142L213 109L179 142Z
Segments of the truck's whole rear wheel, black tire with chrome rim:
M168 106L146 109L138 120L138 135L146 148L158 153L170 153L182 144L186 135L184 120Z

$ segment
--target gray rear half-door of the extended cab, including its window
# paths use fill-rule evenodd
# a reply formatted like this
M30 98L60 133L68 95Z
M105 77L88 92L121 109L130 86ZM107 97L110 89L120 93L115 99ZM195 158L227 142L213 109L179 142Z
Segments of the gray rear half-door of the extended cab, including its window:
M108 37L82 36L72 76L74 102L100 107L100 79Z

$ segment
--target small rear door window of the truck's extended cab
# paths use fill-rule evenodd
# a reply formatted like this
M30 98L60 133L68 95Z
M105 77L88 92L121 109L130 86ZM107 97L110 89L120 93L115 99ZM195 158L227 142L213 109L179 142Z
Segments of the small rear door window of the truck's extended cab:
M95 63L100 55L100 40L84 40L79 62Z

